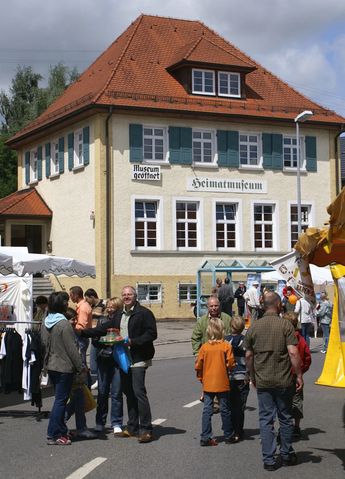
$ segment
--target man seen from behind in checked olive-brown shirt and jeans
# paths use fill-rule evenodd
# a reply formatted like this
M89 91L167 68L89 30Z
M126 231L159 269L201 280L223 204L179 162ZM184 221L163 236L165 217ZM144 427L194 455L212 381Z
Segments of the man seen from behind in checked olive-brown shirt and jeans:
M281 319L281 298L277 293L264 297L266 313L250 326L243 347L252 385L256 388L259 404L259 426L264 469L276 469L274 453L277 437L273 416L277 410L282 466L293 466L297 456L292 448L292 398L303 388L298 339L289 321ZM294 380L291 364L296 373Z

